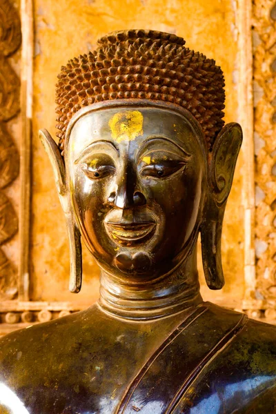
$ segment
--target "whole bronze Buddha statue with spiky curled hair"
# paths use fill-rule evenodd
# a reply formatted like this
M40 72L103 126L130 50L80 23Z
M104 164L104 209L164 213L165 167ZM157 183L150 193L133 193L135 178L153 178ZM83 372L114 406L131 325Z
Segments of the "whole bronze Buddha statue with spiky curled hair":
M242 144L224 76L184 39L113 32L61 68L50 157L70 290L81 239L99 301L0 341L0 413L276 413L276 328L204 302L224 285L221 228ZM54 243L54 241L53 241Z

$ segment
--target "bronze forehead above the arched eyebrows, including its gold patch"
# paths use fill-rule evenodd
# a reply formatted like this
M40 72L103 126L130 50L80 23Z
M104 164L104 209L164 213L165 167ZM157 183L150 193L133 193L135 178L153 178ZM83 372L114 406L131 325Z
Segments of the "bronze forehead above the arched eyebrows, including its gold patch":
M77 155L93 141L108 139L121 142L142 141L148 136L168 137L186 148L199 144L202 137L185 115L167 108L122 106L84 111L68 134L70 155Z

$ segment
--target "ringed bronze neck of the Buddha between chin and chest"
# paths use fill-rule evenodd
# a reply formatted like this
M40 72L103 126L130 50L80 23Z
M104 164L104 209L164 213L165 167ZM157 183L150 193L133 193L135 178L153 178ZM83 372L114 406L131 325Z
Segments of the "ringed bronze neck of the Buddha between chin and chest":
M101 273L99 306L126 319L156 319L202 302L197 272L197 248L170 275L147 284L125 284Z

